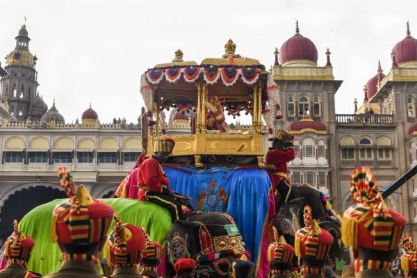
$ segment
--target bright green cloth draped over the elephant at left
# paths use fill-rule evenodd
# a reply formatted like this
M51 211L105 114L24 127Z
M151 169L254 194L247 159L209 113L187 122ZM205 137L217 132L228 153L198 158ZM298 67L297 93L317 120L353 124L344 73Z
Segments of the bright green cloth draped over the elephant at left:
M47 275L56 272L63 262L63 255L58 244L51 242L51 218L56 204L65 202L65 200L56 199L33 208L19 222L19 229L35 240L31 259L28 262L28 270ZM152 240L161 245L165 243L172 225L170 213L165 208L151 202L138 202L136 199L101 199L101 201L113 207L120 215L122 223L143 226ZM112 222L109 234L113 227ZM106 250L103 254L106 254Z

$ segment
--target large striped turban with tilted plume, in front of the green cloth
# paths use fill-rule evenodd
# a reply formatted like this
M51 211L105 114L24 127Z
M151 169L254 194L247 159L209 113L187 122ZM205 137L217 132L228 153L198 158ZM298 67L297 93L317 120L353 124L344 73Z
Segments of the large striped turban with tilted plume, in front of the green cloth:
M67 168L58 169L60 185L70 199L56 205L52 213L51 240L62 244L87 245L106 238L113 208L91 197L81 185L76 190Z

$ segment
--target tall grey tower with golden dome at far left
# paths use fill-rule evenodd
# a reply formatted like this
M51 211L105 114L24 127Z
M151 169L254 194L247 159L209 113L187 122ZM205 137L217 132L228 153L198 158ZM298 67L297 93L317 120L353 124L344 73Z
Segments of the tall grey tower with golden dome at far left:
M38 77L35 70L36 56L29 51L28 31L26 25L17 34L15 50L6 56L7 76L1 79L0 99L7 100L10 113L17 120L26 120L31 101L35 99L38 88Z

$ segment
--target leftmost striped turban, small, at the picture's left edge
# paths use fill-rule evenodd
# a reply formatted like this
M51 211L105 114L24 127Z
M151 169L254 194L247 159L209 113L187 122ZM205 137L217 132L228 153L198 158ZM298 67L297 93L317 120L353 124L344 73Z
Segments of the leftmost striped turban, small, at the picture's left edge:
M22 260L28 261L35 241L29 236L26 236L23 231L19 231L19 223L17 220L13 221L13 234L6 240L4 248L5 256L8 260Z

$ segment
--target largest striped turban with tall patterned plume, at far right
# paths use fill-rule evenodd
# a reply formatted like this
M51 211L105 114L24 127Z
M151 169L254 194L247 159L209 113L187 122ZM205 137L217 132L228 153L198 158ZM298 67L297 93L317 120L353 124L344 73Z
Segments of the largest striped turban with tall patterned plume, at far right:
M354 205L343 214L343 243L354 248L395 250L406 222L404 216L386 207L368 167L357 167L350 177Z

